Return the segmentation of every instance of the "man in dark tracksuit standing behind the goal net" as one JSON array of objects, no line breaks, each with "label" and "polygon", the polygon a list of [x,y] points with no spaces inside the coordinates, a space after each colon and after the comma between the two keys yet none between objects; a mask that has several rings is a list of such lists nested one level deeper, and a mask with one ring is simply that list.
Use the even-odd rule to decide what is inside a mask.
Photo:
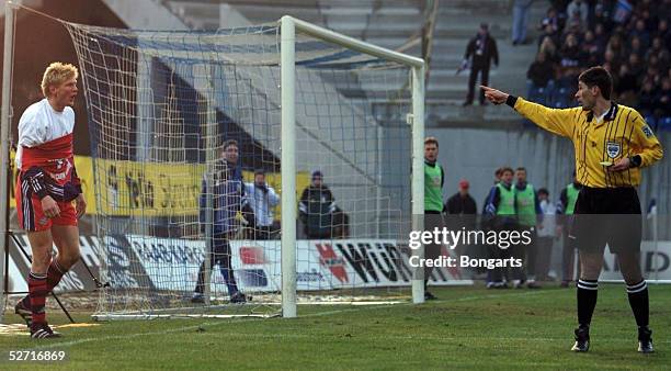
[{"label": "man in dark tracksuit standing behind the goal net", "polygon": [[[244,199],[244,186],[242,183],[242,170],[238,166],[238,142],[229,139],[224,144],[221,158],[215,166],[211,181],[213,192],[213,207],[208,210],[206,194],[207,182],[203,179],[203,191],[201,192],[201,223],[205,223],[205,213],[213,213],[212,217],[212,252],[209,254],[209,267],[219,265],[219,270],[228,288],[231,303],[246,303],[247,296],[238,290],[236,277],[234,276],[230,238],[237,233],[236,214],[242,211]],[[206,177],[208,175],[205,175]],[[253,223],[253,216],[247,218]],[[250,221],[251,220],[251,221]],[[205,296],[205,261],[198,269],[196,288],[191,297],[192,303],[204,303]]]}]

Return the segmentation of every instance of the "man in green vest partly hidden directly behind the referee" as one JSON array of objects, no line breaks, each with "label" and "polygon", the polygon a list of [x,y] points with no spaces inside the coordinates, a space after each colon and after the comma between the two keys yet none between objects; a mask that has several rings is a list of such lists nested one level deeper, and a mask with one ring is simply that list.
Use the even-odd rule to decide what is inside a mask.
[{"label": "man in green vest partly hidden directly behind the referee", "polygon": [[573,171],[573,181],[566,186],[559,196],[557,205],[558,228],[561,229],[564,248],[561,251],[561,288],[568,288],[571,281],[575,280],[573,266],[576,263],[576,245],[569,238],[569,226],[573,218],[576,210],[576,201],[582,186],[576,180],[576,171]]}]

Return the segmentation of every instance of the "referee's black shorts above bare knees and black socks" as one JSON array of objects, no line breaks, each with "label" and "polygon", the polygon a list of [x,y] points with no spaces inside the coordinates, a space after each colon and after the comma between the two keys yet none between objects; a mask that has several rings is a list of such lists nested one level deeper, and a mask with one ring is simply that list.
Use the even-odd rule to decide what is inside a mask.
[{"label": "referee's black shorts above bare knees and black socks", "polygon": [[640,201],[635,188],[583,187],[576,202],[570,235],[587,252],[639,252],[642,234]]}]

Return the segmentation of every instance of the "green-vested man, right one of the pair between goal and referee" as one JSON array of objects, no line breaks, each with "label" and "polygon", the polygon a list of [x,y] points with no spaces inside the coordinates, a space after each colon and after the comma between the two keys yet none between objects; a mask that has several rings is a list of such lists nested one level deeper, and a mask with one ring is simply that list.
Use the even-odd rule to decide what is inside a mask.
[{"label": "green-vested man, right one of the pair between goal and referee", "polygon": [[[515,289],[522,289],[524,281],[527,279],[530,289],[539,289],[536,283],[536,226],[541,224],[543,210],[534,186],[526,181],[526,169],[519,167],[515,170],[515,212],[518,215],[518,225],[520,231],[531,231],[532,243],[530,245],[518,244],[512,247],[512,255],[515,258],[526,260],[522,268],[516,269],[516,278],[513,281]],[[526,267],[526,271],[525,268]]]}]

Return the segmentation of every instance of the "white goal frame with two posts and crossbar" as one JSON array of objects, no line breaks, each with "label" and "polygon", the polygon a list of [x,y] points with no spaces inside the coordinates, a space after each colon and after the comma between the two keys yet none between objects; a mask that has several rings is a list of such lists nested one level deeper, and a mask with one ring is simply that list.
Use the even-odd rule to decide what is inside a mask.
[{"label": "white goal frame with two posts and crossbar", "polygon": [[[369,54],[372,56],[385,58],[411,68],[412,81],[412,113],[408,116],[409,124],[412,125],[412,214],[422,215],[424,213],[424,177],[423,177],[423,138],[424,138],[424,61],[421,58],[385,49],[373,44],[368,44],[345,35],[338,34],[330,30],[297,20],[285,15],[280,20],[282,35],[282,142],[292,144],[296,142],[295,132],[295,35],[296,32],[341,45],[353,50]],[[295,148],[283,146],[282,151],[282,175],[284,186],[295,189]],[[287,181],[289,183],[287,183]],[[293,221],[296,218],[295,207],[296,192],[283,192],[282,194],[282,218]],[[413,229],[419,231],[421,225],[417,225],[420,218],[413,217]],[[296,228],[295,225],[284,227],[282,231],[282,308],[284,317],[296,316]],[[423,257],[423,246],[416,251]],[[420,270],[413,271],[412,280],[412,301],[413,303],[424,302],[424,284],[418,274]],[[422,276],[423,277],[423,276]]]}]

